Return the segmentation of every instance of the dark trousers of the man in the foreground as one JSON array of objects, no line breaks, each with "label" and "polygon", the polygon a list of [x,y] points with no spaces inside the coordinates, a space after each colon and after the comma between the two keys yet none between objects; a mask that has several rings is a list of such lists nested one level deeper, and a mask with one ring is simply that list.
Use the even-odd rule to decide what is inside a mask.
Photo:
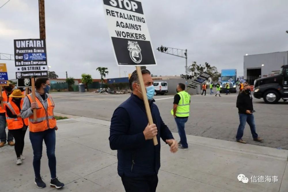
[{"label": "dark trousers of the man in the foreground", "polygon": [[158,185],[158,176],[121,177],[126,192],[155,192]]}]

